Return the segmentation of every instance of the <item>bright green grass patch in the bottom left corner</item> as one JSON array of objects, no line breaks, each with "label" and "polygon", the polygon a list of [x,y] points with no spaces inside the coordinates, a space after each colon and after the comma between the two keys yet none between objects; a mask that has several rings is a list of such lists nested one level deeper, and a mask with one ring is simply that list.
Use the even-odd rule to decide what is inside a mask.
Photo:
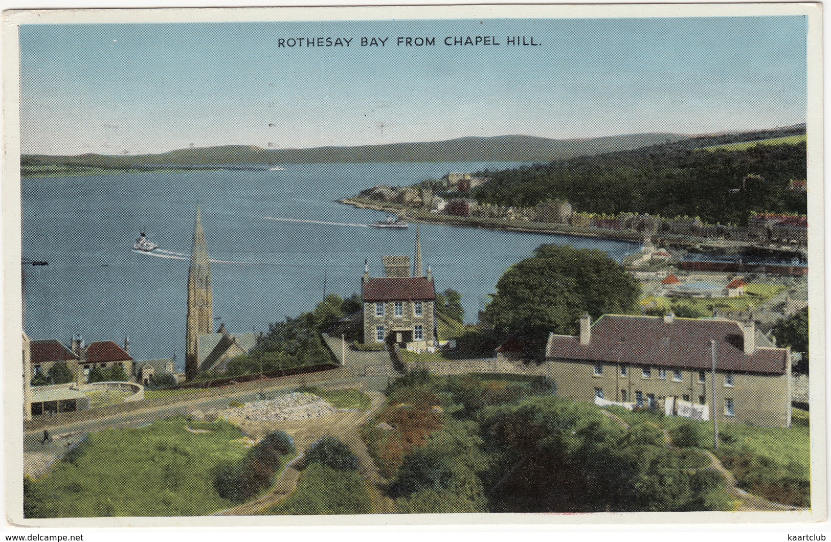
[{"label": "bright green grass patch in the bottom left corner", "polygon": [[32,482],[32,517],[207,515],[234,505],[214,490],[214,469],[248,448],[238,428],[184,417],[91,433]]}]

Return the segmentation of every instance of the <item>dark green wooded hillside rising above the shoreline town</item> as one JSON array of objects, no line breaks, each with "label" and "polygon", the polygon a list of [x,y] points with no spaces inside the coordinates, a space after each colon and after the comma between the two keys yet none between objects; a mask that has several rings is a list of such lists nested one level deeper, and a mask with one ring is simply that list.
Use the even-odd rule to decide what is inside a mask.
[{"label": "dark green wooded hillside rising above the shoreline town", "polygon": [[777,131],[701,136],[603,155],[555,160],[519,169],[481,171],[488,183],[472,191],[480,204],[529,207],[568,200],[590,213],[637,212],[699,216],[705,222],[744,225],[751,211],[805,214],[804,192],[791,180],[807,177],[806,143],[709,149],[742,140],[804,134],[804,126]]}]

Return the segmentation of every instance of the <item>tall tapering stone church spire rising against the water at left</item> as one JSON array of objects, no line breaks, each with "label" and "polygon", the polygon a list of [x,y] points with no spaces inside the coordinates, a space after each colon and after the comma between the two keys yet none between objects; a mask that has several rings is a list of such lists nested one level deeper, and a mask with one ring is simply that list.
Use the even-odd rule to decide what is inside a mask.
[{"label": "tall tapering stone church spire rising against the water at left", "polygon": [[199,336],[213,332],[214,292],[211,287],[210,260],[205,244],[199,207],[196,208],[194,247],[188,273],[188,328],[185,372],[188,379],[199,373]]}]

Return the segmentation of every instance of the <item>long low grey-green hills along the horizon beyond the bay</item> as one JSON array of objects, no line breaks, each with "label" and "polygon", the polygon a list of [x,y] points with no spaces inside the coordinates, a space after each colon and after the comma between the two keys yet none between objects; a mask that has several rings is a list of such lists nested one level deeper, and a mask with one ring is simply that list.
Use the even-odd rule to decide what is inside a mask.
[{"label": "long low grey-green hills along the horizon beyond the bay", "polygon": [[125,170],[165,165],[223,167],[334,162],[552,162],[668,143],[684,142],[687,148],[691,148],[804,133],[805,126],[799,125],[765,131],[723,132],[710,135],[656,132],[572,140],[553,140],[532,135],[497,135],[445,141],[354,147],[328,146],[312,149],[263,149],[251,145],[221,145],[170,150],[153,155],[22,155],[21,165],[24,170],[34,171],[44,166]]}]

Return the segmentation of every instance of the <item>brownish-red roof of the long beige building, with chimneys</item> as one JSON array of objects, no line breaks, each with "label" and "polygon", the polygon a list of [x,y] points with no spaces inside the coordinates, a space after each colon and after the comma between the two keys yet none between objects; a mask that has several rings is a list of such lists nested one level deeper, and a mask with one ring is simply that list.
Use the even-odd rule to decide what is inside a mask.
[{"label": "brownish-red roof of the long beige building, with chimneys", "polygon": [[591,328],[588,344],[578,337],[548,338],[546,357],[594,362],[707,369],[712,367],[711,339],[715,339],[721,371],[782,375],[789,362],[784,348],[756,347],[744,352],[744,331],[739,323],[722,319],[605,315]]}]

